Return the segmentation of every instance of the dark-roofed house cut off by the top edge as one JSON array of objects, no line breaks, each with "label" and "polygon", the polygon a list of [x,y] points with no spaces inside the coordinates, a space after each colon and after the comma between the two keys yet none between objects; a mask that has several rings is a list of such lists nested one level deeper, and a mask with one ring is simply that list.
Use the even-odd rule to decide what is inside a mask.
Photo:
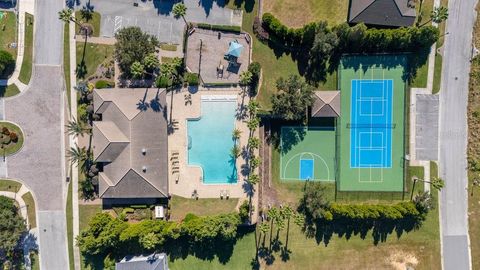
[{"label": "dark-roofed house cut off by the top edge", "polygon": [[416,13],[413,0],[350,0],[348,22],[374,26],[412,26]]}]

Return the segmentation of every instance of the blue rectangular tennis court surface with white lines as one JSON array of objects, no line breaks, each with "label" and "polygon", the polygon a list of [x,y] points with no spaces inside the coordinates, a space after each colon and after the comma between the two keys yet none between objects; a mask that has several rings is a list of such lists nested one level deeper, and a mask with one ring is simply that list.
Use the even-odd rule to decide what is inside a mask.
[{"label": "blue rectangular tennis court surface with white lines", "polygon": [[392,166],[392,80],[352,80],[350,167]]}]

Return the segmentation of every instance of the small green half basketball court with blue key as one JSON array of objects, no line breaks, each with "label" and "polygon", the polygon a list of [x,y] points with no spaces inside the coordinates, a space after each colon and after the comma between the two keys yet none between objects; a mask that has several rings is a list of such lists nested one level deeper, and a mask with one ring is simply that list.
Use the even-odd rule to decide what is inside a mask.
[{"label": "small green half basketball court with blue key", "polygon": [[335,181],[335,129],[282,127],[280,178]]}]

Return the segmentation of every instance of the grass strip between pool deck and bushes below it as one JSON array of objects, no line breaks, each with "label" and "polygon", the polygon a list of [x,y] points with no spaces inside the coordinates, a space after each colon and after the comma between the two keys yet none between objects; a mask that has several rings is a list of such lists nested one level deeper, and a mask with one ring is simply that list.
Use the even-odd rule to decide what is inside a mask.
[{"label": "grass strip between pool deck and bushes below it", "polygon": [[235,211],[238,199],[187,199],[179,196],[172,196],[170,200],[170,218],[172,220],[181,220],[186,214],[192,213],[198,216],[207,216],[222,213],[231,213]]}]

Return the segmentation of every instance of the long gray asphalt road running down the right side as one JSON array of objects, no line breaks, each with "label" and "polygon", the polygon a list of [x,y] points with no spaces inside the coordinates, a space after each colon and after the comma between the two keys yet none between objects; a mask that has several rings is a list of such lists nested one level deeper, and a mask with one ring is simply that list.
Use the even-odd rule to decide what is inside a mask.
[{"label": "long gray asphalt road running down the right side", "polygon": [[467,100],[477,0],[449,1],[440,94],[443,267],[470,269],[467,192]]}]

